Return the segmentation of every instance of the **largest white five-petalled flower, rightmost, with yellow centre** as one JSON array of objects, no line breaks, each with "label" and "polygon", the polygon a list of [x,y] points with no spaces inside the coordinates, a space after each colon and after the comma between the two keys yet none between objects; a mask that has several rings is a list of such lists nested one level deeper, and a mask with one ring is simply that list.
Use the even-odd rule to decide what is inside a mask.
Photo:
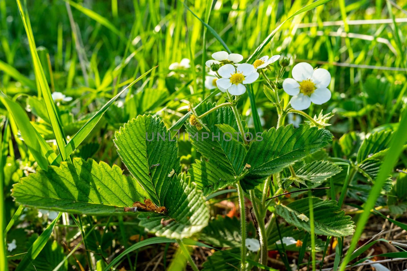
[{"label": "largest white five-petalled flower, rightmost, with yellow centre", "polygon": [[291,71],[293,78],[287,78],[282,82],[282,88],[291,96],[291,106],[296,110],[309,108],[311,102],[323,104],[331,98],[331,92],[327,88],[331,76],[326,69],[313,67],[306,62],[298,63]]}]

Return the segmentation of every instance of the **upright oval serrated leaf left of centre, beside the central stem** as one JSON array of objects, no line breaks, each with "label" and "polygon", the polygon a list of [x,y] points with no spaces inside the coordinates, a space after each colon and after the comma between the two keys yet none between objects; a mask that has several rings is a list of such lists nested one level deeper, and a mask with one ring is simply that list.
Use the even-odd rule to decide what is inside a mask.
[{"label": "upright oval serrated leaf left of centre, beside the central stem", "polygon": [[173,169],[175,174],[181,171],[177,141],[170,140],[164,123],[151,115],[139,115],[116,132],[114,143],[130,173],[151,200],[163,206],[171,179],[168,174]]}]

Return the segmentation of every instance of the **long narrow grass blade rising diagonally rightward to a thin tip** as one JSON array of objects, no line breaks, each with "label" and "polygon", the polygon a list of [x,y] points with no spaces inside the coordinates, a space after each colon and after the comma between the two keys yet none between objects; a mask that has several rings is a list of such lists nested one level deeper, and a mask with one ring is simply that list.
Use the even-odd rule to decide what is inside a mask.
[{"label": "long narrow grass blade rising diagonally rightward to a thin tip", "polygon": [[[142,78],[144,78],[147,74],[149,74],[149,72],[151,72],[156,67],[157,66],[149,69],[147,72],[142,74],[136,80],[131,82],[127,87],[125,87],[122,91],[120,91],[116,96],[114,96],[112,99],[110,99],[109,102],[107,102],[104,106],[102,106],[102,108],[99,109],[99,111],[96,112],[96,114],[93,115],[93,117],[91,117],[88,120],[88,122],[86,122],[86,124],[84,126],[82,126],[81,129],[79,129],[79,131],[74,135],[74,137],[72,137],[72,139],[69,141],[69,143],[66,144],[66,146],[65,146],[66,154],[70,155],[79,146],[79,144],[82,143],[82,141],[88,136],[88,134],[93,130],[93,128],[98,123],[98,121],[101,119],[101,117],[103,116],[103,113],[106,112],[106,110],[109,108],[109,106],[111,106],[114,103],[114,101],[116,101],[116,99],[120,95],[122,95],[122,93],[124,91],[126,91],[126,89],[129,89],[130,87],[132,87],[134,84],[136,84],[138,81],[140,81]],[[61,155],[58,154],[58,156],[52,162],[52,165],[59,165],[59,163],[61,163],[61,161],[62,161]]]}]

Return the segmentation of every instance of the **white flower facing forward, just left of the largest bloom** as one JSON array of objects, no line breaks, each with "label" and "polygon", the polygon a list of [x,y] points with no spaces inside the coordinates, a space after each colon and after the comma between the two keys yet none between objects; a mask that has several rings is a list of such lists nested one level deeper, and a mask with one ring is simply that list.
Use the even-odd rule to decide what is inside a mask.
[{"label": "white flower facing forward, just left of the largest bloom", "polygon": [[246,92],[245,84],[251,84],[258,78],[258,73],[252,64],[243,63],[235,68],[232,64],[226,64],[219,68],[218,74],[222,76],[216,80],[218,88],[232,95],[242,95]]}]

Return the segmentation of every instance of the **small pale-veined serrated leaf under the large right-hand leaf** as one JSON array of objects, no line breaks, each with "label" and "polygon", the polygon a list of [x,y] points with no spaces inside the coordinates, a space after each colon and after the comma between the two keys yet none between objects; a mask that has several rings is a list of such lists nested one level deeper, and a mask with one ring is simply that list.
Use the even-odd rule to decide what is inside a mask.
[{"label": "small pale-veined serrated leaf under the large right-hand leaf", "polygon": [[295,169],[295,177],[284,178],[282,180],[284,188],[292,182],[300,182],[307,187],[313,187],[322,181],[335,176],[342,171],[342,168],[328,161],[314,161],[306,163],[300,169]]}]

